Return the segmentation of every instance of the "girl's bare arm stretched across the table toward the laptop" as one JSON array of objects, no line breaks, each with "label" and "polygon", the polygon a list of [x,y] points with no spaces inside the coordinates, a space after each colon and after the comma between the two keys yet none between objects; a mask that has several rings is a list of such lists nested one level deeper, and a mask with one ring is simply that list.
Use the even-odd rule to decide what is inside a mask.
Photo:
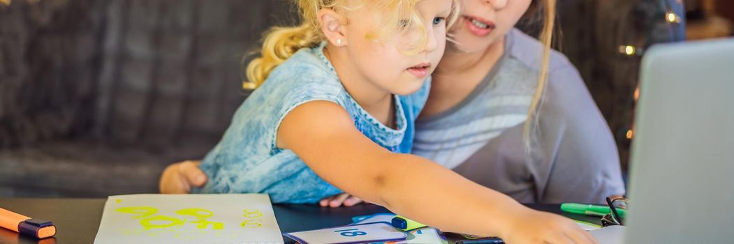
[{"label": "girl's bare arm stretched across the table toward the laptop", "polygon": [[291,149],[330,184],[446,232],[509,243],[594,242],[567,218],[530,210],[437,163],[379,147],[335,103],[294,108],[278,128],[277,146]]}]

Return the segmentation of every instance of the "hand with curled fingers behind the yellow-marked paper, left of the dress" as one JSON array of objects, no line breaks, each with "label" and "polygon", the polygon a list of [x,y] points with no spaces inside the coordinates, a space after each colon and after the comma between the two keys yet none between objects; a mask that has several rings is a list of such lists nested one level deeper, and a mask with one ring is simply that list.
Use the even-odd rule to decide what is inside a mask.
[{"label": "hand with curled fingers behind the yellow-marked paper, left of the dress", "polygon": [[206,174],[199,169],[200,164],[200,160],[186,160],[167,166],[159,182],[161,193],[190,193],[192,187],[202,187],[206,184]]}]

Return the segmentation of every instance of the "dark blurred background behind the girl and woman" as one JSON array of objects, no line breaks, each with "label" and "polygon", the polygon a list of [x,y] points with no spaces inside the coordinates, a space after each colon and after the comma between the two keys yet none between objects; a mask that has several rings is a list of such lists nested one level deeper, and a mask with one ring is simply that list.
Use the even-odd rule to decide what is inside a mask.
[{"label": "dark blurred background behind the girl and woman", "polygon": [[[216,143],[247,95],[242,57],[267,27],[294,21],[289,10],[283,0],[0,4],[0,196],[157,191],[164,166]],[[640,56],[619,45],[682,39],[669,11],[683,17],[675,0],[559,1],[556,46],[581,71],[623,165]]]}]

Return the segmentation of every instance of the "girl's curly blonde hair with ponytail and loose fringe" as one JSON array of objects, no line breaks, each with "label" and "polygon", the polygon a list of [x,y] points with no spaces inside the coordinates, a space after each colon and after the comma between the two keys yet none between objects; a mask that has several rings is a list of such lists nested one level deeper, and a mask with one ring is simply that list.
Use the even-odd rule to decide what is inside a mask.
[{"label": "girl's curly blonde hair with ponytail and loose fringe", "polygon": [[[260,57],[253,59],[247,64],[247,81],[243,83],[244,89],[255,89],[268,78],[270,72],[292,56],[300,48],[310,48],[325,40],[321,33],[319,23],[319,10],[324,8],[333,9],[337,12],[357,10],[364,4],[351,4],[355,0],[296,0],[302,23],[299,26],[273,27],[266,32]],[[393,34],[400,29],[418,28],[424,33],[425,26],[418,15],[415,5],[421,0],[373,0],[368,1],[374,10],[381,10],[382,23],[377,32],[370,32],[368,40],[379,41],[385,35]],[[450,17],[446,20],[450,26],[459,16],[458,4],[453,0]],[[349,2],[350,4],[348,4]],[[347,23],[349,20],[346,20]],[[426,44],[426,38],[422,38],[418,45],[412,45],[411,52],[421,50]]]}]

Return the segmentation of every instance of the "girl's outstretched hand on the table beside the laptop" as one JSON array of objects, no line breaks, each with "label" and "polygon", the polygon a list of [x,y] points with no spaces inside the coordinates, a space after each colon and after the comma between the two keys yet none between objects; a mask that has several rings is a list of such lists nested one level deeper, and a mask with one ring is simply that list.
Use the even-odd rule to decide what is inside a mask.
[{"label": "girl's outstretched hand on the table beside the laptop", "polygon": [[589,232],[561,215],[527,209],[516,216],[501,236],[506,243],[597,243]]}]

